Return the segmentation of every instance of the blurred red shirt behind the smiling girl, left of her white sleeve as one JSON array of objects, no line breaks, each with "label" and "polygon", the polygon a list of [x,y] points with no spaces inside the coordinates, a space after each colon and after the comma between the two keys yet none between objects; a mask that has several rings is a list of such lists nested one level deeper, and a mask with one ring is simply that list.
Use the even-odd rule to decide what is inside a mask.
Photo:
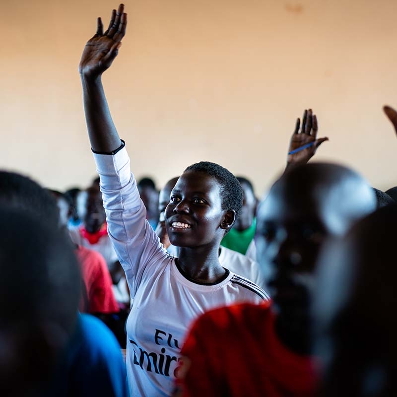
[{"label": "blurred red shirt behind the smiling girl, left of her white sleeve", "polygon": [[88,313],[110,314],[120,311],[112,290],[112,278],[102,255],[78,246],[75,250],[87,290]]}]

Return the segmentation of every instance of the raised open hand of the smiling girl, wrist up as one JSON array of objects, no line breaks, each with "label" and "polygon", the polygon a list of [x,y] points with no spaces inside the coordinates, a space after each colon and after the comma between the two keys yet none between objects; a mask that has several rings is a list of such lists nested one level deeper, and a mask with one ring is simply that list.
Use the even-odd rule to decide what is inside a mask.
[{"label": "raised open hand of the smiling girl, wrist up", "polygon": [[81,55],[78,66],[79,73],[85,78],[100,76],[118,54],[121,40],[126,34],[127,14],[124,12],[124,4],[119,9],[112,11],[108,30],[103,33],[101,18],[98,18],[96,34],[88,40]]}]

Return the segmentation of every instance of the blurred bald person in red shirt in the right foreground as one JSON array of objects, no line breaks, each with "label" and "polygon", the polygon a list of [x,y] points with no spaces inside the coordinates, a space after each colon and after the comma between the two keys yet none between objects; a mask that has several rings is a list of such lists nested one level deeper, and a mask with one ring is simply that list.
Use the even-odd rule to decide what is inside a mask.
[{"label": "blurred bald person in red shirt in the right foreground", "polygon": [[[305,116],[312,123],[311,111]],[[310,136],[307,121],[303,125],[301,133]],[[199,317],[182,348],[178,396],[315,396],[310,296],[317,256],[327,238],[375,210],[376,198],[345,167],[297,163],[258,210],[257,258],[270,268],[271,304],[223,307]]]}]

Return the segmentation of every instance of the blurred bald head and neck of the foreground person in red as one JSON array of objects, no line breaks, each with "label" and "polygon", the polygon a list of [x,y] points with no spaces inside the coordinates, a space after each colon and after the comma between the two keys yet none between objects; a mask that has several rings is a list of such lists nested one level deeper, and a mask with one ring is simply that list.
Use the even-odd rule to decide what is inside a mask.
[{"label": "blurred bald head and neck of the foreground person in red", "polygon": [[270,265],[276,332],[293,351],[311,350],[310,296],[320,248],[375,208],[375,194],[361,176],[325,163],[285,173],[260,204],[257,258]]}]

